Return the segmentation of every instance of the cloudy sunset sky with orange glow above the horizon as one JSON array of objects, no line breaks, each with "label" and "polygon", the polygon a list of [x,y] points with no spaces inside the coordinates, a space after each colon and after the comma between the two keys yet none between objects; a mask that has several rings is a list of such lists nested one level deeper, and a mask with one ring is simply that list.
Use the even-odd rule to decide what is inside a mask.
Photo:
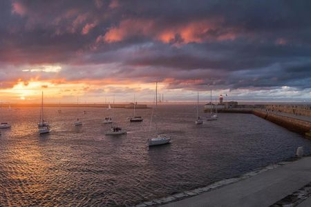
[{"label": "cloudy sunset sky with orange glow above the horizon", "polygon": [[311,101],[311,1],[2,0],[3,102]]}]

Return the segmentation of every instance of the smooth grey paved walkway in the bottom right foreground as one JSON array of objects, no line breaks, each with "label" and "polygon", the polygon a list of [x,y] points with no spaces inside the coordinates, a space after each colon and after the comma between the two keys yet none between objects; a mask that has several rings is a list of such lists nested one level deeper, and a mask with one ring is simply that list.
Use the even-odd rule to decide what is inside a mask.
[{"label": "smooth grey paved walkway in the bottom right foreground", "polygon": [[[303,157],[235,184],[163,206],[270,206],[310,181],[311,157]],[[300,205],[308,201],[310,204],[311,200],[307,199]]]}]

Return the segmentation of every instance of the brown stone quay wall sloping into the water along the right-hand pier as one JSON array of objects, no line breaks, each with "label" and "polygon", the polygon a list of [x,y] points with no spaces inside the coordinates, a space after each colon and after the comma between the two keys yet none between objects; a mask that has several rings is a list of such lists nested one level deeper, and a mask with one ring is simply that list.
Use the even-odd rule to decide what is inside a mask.
[{"label": "brown stone quay wall sloping into the water along the right-hand pier", "polygon": [[219,112],[253,114],[257,117],[261,117],[263,119],[266,119],[267,121],[271,121],[274,124],[278,124],[279,126],[283,126],[284,128],[287,128],[288,130],[297,132],[299,134],[309,136],[311,133],[311,122],[303,121],[301,119],[295,119],[293,117],[278,115],[274,112],[267,112],[265,110],[258,109],[223,109]]}]

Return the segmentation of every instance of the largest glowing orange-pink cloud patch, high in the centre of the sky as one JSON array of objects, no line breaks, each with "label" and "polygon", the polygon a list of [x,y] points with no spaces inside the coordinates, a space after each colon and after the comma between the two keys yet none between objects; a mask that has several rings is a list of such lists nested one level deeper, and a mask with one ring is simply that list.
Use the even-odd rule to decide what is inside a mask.
[{"label": "largest glowing orange-pink cloud patch, high in the centre of the sky", "polygon": [[205,19],[161,29],[159,23],[151,19],[126,19],[119,26],[110,28],[104,36],[97,37],[97,42],[112,43],[135,36],[151,37],[164,43],[202,43],[207,40],[235,39],[236,34],[228,28],[220,28],[221,23],[222,19]]}]

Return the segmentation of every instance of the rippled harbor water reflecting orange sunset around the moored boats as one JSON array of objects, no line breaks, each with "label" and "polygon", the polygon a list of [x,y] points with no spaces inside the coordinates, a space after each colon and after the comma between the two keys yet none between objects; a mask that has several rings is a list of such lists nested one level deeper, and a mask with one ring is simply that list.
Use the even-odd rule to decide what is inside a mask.
[{"label": "rippled harbor water reflecting orange sunset around the moored boats", "polygon": [[[0,206],[127,206],[241,175],[295,154],[311,141],[254,115],[219,114],[194,124],[194,106],[160,106],[156,120],[172,144],[147,147],[151,109],[45,108],[52,132],[38,135],[39,108],[0,110]],[[86,110],[86,115],[83,114]],[[82,127],[73,126],[79,118]],[[203,113],[202,113],[203,114]],[[111,115],[128,130],[105,136]],[[113,124],[116,126],[116,124]]]}]

